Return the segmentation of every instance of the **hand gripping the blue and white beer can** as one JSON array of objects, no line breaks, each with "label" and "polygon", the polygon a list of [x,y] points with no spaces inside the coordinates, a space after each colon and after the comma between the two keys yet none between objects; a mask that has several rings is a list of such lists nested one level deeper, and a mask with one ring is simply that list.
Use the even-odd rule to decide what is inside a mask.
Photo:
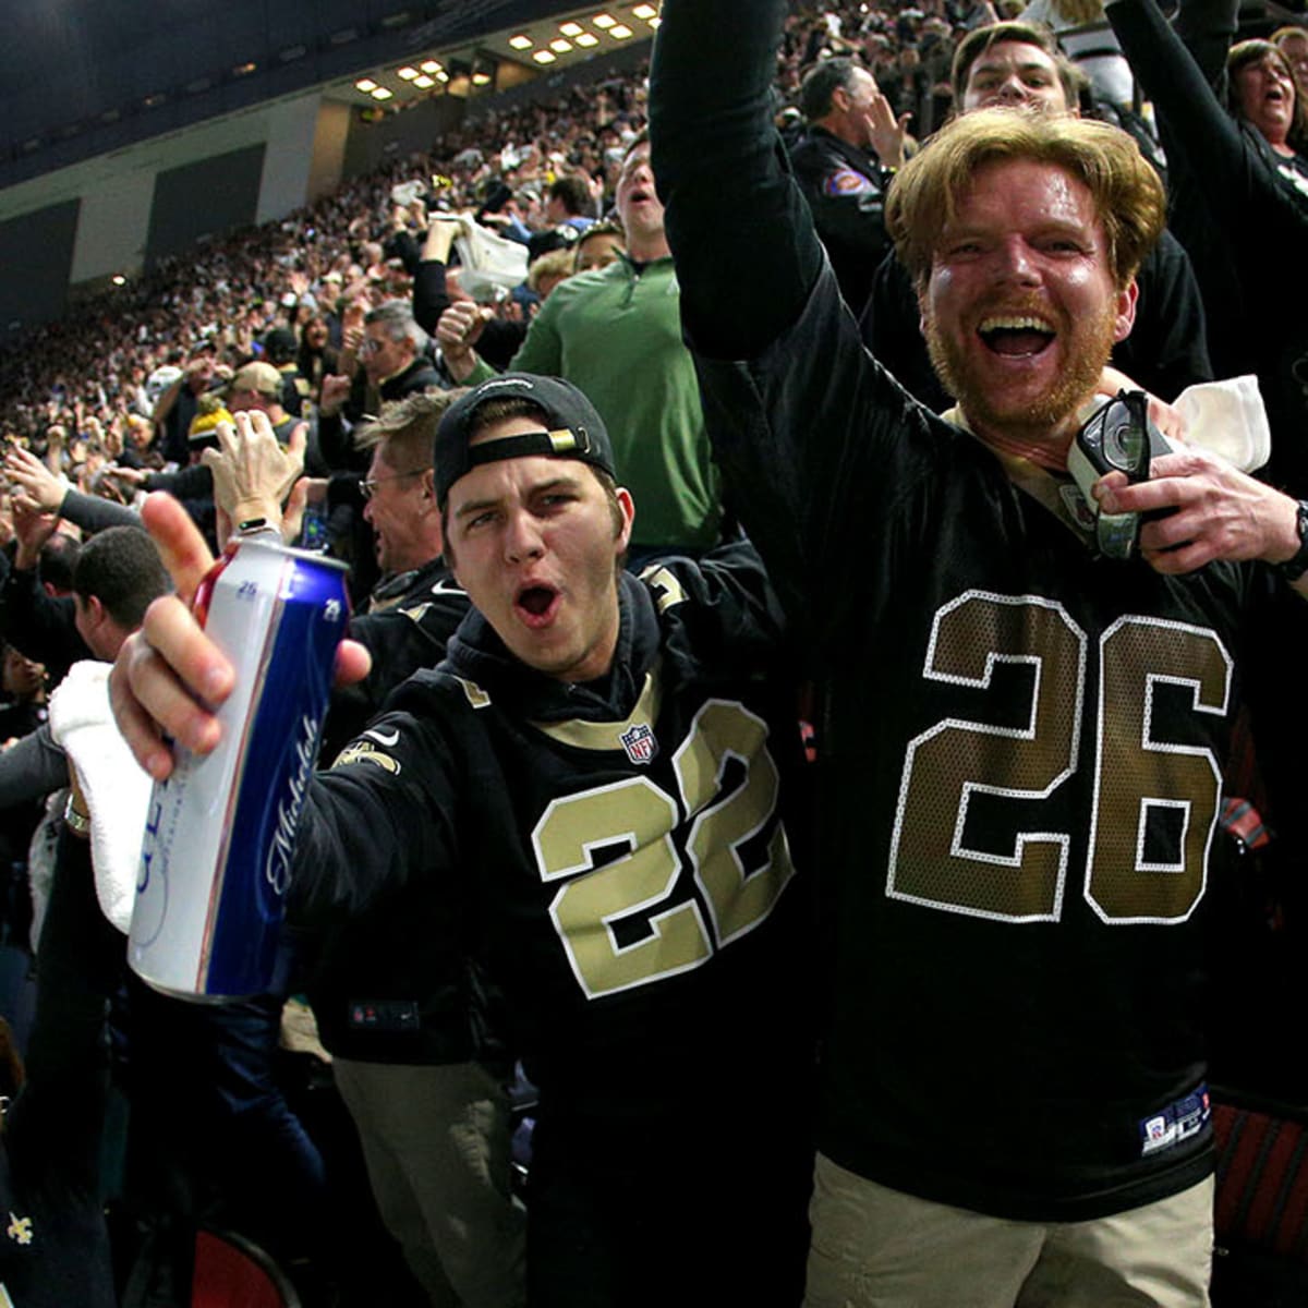
[{"label": "hand gripping the blue and white beer can", "polygon": [[[204,574],[213,566],[204,538],[171,496],[152,494],[141,521],[158,547],[177,594],[156,599],[141,629],[119,650],[109,679],[114,717],[136,756],[152,777],[173,770],[166,732],[196,753],[209,753],[222,731],[213,710],[232,693],[233,667],[204,634],[190,604]],[[336,681],[348,685],[368,675],[368,650],[341,641]]]}]

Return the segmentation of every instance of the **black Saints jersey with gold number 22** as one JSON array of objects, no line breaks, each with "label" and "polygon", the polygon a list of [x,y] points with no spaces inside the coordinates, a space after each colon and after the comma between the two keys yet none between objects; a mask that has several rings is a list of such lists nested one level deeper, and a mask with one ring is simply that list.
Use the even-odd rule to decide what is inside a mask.
[{"label": "black Saints jersey with gold number 22", "polygon": [[752,552],[620,595],[598,687],[525,668],[471,615],[319,778],[297,875],[336,904],[443,879],[555,1110],[647,1121],[742,1069],[803,1074],[799,734]]}]

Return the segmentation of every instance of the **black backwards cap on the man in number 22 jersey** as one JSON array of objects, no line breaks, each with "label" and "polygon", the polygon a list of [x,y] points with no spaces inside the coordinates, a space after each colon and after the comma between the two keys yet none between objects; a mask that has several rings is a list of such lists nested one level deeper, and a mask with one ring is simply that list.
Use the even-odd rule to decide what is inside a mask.
[{"label": "black backwards cap on the man in number 22 jersey", "polygon": [[[528,400],[544,413],[545,425],[538,432],[505,436],[471,445],[477,430],[477,411],[492,400]],[[492,377],[456,399],[436,429],[436,502],[443,509],[454,485],[464,472],[483,463],[521,459],[544,454],[553,459],[579,459],[600,472],[613,473],[613,447],[595,405],[572,382],[532,373],[504,373]]]}]

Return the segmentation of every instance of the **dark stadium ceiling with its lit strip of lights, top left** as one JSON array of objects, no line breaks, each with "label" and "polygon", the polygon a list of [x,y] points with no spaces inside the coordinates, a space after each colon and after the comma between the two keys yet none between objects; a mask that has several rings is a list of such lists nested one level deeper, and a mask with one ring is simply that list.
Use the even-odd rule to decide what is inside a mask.
[{"label": "dark stadium ceiling with its lit strip of lights, top left", "polygon": [[[10,5],[0,42],[0,190],[309,92],[374,115],[422,95],[506,90],[647,42],[657,24],[654,0],[568,5],[167,0],[166,13],[144,0]],[[562,24],[579,29],[576,39]],[[422,64],[438,65],[449,80]],[[415,76],[399,78],[400,68]],[[381,94],[358,92],[360,80],[371,80]]]}]

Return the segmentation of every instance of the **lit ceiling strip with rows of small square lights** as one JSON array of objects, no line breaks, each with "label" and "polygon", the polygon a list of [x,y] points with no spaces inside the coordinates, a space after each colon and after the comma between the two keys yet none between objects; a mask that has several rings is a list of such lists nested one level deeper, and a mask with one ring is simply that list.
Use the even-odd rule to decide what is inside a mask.
[{"label": "lit ceiling strip with rows of small square lights", "polygon": [[607,55],[653,37],[658,5],[594,5],[518,24],[455,46],[433,46],[324,89],[360,109],[407,109],[432,95],[476,95]]}]

